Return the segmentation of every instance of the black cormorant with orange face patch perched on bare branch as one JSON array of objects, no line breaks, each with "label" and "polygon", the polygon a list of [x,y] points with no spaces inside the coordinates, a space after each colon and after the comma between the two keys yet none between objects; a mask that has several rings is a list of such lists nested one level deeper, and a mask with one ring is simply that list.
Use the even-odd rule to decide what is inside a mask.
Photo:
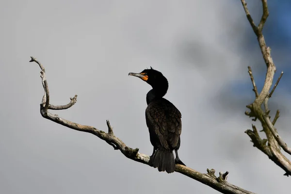
[{"label": "black cormorant with orange face patch perched on bare branch", "polygon": [[[129,73],[152,86],[146,95],[146,126],[154,150],[149,164],[158,170],[172,173],[175,163],[185,165],[178,157],[180,134],[182,129],[181,113],[163,96],[167,93],[169,84],[160,71],[145,69],[141,73]],[[173,150],[176,153],[174,160]]]}]

